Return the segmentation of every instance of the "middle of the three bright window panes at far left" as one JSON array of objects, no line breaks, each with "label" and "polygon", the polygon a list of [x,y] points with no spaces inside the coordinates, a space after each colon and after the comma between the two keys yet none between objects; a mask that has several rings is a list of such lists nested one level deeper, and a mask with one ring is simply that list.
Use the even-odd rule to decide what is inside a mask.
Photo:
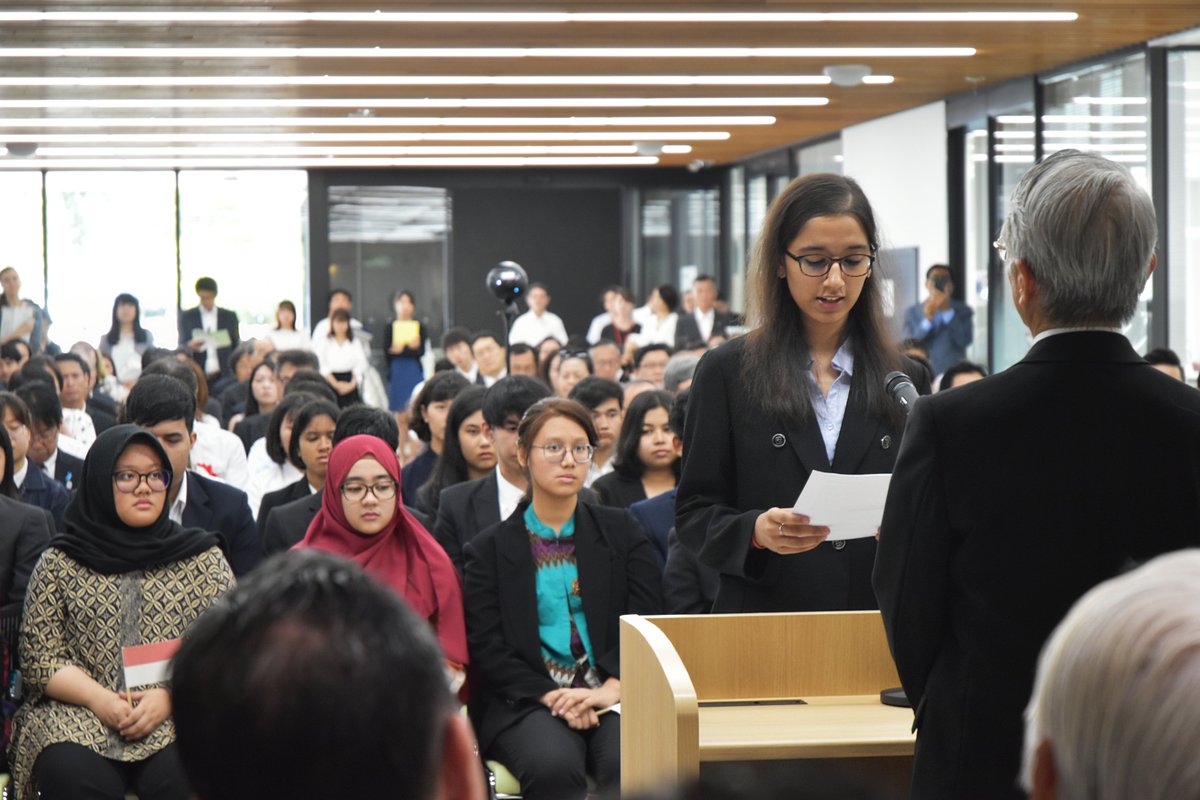
[{"label": "middle of the three bright window panes at far left", "polygon": [[96,344],[113,299],[138,297],[155,343],[175,347],[175,174],[46,174],[52,338]]}]

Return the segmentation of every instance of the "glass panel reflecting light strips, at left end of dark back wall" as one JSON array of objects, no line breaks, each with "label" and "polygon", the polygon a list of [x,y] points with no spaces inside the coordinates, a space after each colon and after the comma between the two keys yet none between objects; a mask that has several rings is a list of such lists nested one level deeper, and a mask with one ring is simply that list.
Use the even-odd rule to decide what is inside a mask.
[{"label": "glass panel reflecting light strips, at left end of dark back wall", "polygon": [[[330,186],[329,287],[352,293],[354,315],[376,336],[391,320],[392,295],[408,289],[416,297],[416,318],[439,342],[446,326],[449,233],[444,188]],[[320,319],[325,312],[314,308],[312,315]]]}]

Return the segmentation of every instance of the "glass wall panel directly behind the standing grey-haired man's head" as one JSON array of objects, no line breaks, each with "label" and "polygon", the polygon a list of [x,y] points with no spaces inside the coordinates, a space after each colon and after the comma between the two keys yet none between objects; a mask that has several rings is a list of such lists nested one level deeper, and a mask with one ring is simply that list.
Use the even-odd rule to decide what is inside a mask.
[{"label": "glass wall panel directly behind the standing grey-haired man's head", "polygon": [[[1150,191],[1150,114],[1146,58],[1056,76],[1044,84],[1045,152],[1074,149],[1118,161]],[[1152,284],[1146,282],[1126,333],[1139,353],[1150,349]]]}]

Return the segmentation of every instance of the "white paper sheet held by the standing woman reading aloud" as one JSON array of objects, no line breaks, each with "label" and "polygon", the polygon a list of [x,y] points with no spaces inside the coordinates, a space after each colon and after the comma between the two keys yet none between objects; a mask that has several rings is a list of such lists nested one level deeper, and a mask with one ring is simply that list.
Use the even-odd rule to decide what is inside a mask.
[{"label": "white paper sheet held by the standing woman reading aloud", "polygon": [[887,500],[890,482],[890,475],[841,475],[814,470],[792,510],[808,516],[814,525],[828,527],[828,542],[865,539],[875,535],[883,519],[883,501]]}]

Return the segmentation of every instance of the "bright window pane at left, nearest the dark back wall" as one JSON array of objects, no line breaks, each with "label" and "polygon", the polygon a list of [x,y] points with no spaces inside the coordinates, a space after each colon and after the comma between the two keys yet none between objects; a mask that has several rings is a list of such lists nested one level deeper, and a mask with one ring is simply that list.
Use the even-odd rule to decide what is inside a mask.
[{"label": "bright window pane at left, nearest the dark back wall", "polygon": [[304,172],[181,172],[182,307],[196,305],[196,281],[209,276],[220,289],[217,305],[238,313],[242,338],[272,329],[284,299],[296,306],[296,327],[311,323],[304,308],[307,200]]}]

